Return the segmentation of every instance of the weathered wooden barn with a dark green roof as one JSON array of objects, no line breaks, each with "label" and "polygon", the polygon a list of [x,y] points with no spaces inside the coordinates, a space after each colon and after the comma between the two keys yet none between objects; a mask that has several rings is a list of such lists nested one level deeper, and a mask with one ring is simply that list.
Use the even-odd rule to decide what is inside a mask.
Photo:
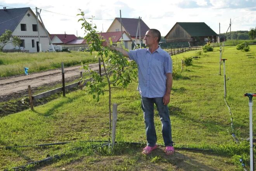
[{"label": "weathered wooden barn with a dark green roof", "polygon": [[218,34],[204,22],[176,22],[164,38],[167,43],[189,42],[195,45],[216,42]]}]

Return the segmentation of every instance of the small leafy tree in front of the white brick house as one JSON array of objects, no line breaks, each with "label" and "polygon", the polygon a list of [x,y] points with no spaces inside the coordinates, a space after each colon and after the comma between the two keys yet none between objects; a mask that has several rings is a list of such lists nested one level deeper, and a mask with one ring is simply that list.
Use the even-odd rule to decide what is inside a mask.
[{"label": "small leafy tree in front of the white brick house", "polygon": [[19,46],[21,44],[21,39],[17,36],[12,36],[12,31],[5,30],[5,32],[0,36],[0,51],[8,43],[12,43],[14,46]]}]

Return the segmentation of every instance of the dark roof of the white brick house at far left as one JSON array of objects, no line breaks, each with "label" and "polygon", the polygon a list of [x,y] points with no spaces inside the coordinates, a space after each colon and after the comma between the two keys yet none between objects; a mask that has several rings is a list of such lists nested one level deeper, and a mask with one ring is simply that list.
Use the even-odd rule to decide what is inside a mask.
[{"label": "dark roof of the white brick house at far left", "polygon": [[6,10],[0,9],[0,35],[7,29],[13,32],[29,9],[29,7]]}]

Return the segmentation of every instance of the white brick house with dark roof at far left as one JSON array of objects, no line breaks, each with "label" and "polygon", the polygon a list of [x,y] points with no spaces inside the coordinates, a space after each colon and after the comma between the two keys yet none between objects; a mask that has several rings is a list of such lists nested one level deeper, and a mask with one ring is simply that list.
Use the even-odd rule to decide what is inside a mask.
[{"label": "white brick house with dark roof at far left", "polygon": [[[0,35],[5,30],[12,31],[12,36],[21,39],[21,49],[28,50],[29,53],[39,51],[38,30],[36,24],[36,15],[29,8],[14,8],[0,10]],[[47,32],[43,29],[42,23],[39,21],[40,44],[42,51],[49,49],[49,40]],[[3,50],[15,49],[12,43],[7,44]]]}]

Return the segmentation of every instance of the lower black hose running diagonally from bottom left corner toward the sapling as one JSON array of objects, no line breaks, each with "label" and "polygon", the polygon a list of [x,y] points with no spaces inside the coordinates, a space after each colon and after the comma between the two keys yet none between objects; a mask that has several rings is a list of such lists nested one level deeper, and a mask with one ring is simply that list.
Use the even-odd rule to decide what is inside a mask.
[{"label": "lower black hose running diagonally from bottom left corner toward the sapling", "polygon": [[[93,145],[93,149],[95,149],[95,147],[99,147],[99,146],[104,147],[106,145],[108,145],[108,143],[105,143],[103,145],[102,144],[101,145]],[[81,150],[81,149],[83,149],[83,148],[82,147],[76,147],[74,149],[71,149],[71,151]],[[65,155],[66,155],[65,153],[55,154],[54,156],[47,157],[47,158],[45,158],[43,160],[35,161],[35,162],[30,162],[30,163],[24,164],[22,166],[17,166],[17,167],[11,168],[10,170],[15,170],[15,171],[17,170],[18,171],[18,170],[21,170],[21,169],[25,169],[29,165],[34,165],[35,166],[35,165],[38,165],[40,163],[45,163],[45,162],[48,162],[48,161],[52,161],[54,159],[60,159],[61,157],[65,156]],[[4,171],[9,171],[9,169],[5,169]]]}]

